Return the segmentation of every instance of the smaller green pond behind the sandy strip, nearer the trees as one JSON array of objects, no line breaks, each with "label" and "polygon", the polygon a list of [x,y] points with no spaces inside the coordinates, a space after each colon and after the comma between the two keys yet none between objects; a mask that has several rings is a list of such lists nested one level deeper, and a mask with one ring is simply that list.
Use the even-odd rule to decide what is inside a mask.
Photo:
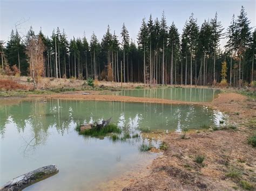
[{"label": "smaller green pond behind the sandy strip, nearer the trees", "polygon": [[[112,95],[161,98],[167,100],[187,102],[209,102],[220,93],[217,89],[207,88],[151,88],[151,89],[124,89],[111,93]],[[109,93],[108,93],[109,94]]]}]

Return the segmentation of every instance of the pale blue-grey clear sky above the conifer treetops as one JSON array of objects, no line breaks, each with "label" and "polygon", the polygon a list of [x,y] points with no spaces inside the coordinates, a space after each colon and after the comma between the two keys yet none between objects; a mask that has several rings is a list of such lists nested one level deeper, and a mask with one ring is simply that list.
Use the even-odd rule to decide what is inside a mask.
[{"label": "pale blue-grey clear sky above the conifer treetops", "polygon": [[[245,7],[251,26],[256,26],[255,0],[0,0],[0,40],[7,41],[11,30],[17,26],[18,32],[24,36],[33,27],[36,33],[42,28],[46,36],[51,36],[53,29],[65,30],[69,39],[83,37],[88,40],[94,31],[99,40],[110,25],[111,32],[116,31],[120,38],[123,23],[129,31],[130,38],[137,41],[142,19],[161,18],[163,11],[170,26],[177,25],[179,32],[194,13],[199,26],[206,19],[213,18],[218,12],[218,19],[225,30],[230,25],[233,14],[238,16],[241,5]],[[221,46],[225,39],[221,40]]]}]

